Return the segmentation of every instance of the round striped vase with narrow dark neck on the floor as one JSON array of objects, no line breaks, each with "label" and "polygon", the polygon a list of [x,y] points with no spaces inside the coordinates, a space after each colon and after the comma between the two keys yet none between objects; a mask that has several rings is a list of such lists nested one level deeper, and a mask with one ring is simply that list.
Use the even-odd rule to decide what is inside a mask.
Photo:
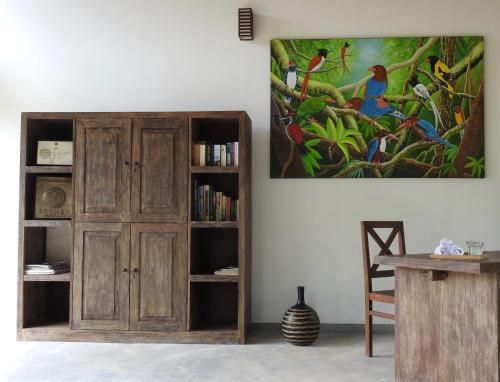
[{"label": "round striped vase with narrow dark neck on the floor", "polygon": [[288,309],[281,321],[281,330],[292,345],[311,345],[319,334],[319,317],[304,301],[304,287],[297,287],[297,304]]}]

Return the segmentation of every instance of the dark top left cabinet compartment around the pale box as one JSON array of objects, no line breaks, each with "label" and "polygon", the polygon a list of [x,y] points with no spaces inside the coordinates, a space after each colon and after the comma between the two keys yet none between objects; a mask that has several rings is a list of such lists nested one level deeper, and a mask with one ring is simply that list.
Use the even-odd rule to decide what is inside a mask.
[{"label": "dark top left cabinet compartment around the pale box", "polygon": [[38,141],[73,141],[72,119],[28,119],[26,121],[26,165],[36,166]]}]

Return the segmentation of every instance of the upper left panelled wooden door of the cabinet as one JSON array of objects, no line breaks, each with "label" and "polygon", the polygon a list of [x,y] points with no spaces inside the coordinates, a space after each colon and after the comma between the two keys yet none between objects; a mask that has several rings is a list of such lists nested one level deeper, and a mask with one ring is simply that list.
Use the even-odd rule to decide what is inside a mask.
[{"label": "upper left panelled wooden door of the cabinet", "polygon": [[129,119],[77,121],[77,221],[130,221],[130,131]]}]

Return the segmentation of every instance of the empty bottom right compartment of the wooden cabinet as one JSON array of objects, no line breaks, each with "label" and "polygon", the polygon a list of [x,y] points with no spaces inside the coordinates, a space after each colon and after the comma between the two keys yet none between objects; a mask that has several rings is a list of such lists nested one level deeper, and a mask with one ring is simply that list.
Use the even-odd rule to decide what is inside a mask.
[{"label": "empty bottom right compartment of the wooden cabinet", "polygon": [[238,284],[199,282],[190,285],[190,330],[236,330]]}]

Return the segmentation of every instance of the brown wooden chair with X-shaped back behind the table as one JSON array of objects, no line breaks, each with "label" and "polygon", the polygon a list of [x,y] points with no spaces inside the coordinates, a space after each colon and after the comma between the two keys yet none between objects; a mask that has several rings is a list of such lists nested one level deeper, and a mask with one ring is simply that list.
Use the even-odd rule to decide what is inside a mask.
[{"label": "brown wooden chair with X-shaped back behind the table", "polygon": [[[384,241],[377,233],[377,229],[392,228],[391,233]],[[395,256],[390,247],[394,239],[398,236],[399,253],[402,256],[406,253],[405,234],[402,221],[362,221],[361,240],[363,244],[363,269],[365,275],[365,355],[373,356],[373,316],[394,320],[394,314],[373,310],[373,301],[394,304],[394,289],[373,291],[372,279],[381,277],[393,277],[394,270],[378,270],[378,264],[371,264],[370,261],[370,237],[378,245],[379,256]]]}]

